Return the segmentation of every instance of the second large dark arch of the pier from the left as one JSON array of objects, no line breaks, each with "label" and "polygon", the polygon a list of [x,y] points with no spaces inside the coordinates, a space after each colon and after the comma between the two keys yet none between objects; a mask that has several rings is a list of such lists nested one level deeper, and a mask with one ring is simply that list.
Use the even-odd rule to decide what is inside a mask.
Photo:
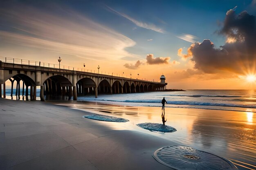
[{"label": "second large dark arch of the pier from the left", "polygon": [[43,95],[49,99],[71,99],[72,83],[62,75],[53,75],[43,82]]}]

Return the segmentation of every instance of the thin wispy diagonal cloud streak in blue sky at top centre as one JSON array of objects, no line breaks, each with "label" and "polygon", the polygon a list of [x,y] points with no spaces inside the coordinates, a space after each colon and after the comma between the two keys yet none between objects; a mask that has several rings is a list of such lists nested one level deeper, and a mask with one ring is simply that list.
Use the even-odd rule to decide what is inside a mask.
[{"label": "thin wispy diagonal cloud streak in blue sky at top centre", "polygon": [[107,7],[108,9],[110,9],[111,11],[113,11],[113,12],[115,12],[115,13],[121,15],[122,17],[124,17],[124,18],[130,20],[130,21],[133,22],[135,25],[137,25],[137,26],[139,26],[139,27],[141,27],[141,28],[150,29],[150,30],[156,31],[156,32],[158,32],[158,33],[166,33],[166,31],[164,31],[163,29],[161,29],[161,28],[155,26],[155,24],[149,24],[149,23],[137,21],[137,20],[131,18],[130,16],[128,16],[128,15],[126,15],[126,14],[124,14],[124,13],[117,12],[117,11],[115,11],[114,9],[112,9],[112,8],[110,8],[110,7],[108,7],[108,6],[106,6],[106,7]]}]

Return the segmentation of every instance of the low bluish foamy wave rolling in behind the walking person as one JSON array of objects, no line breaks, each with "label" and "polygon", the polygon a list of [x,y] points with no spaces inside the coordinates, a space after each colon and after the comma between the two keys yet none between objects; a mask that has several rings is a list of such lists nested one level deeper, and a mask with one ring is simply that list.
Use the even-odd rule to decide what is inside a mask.
[{"label": "low bluish foamy wave rolling in behind the walking person", "polygon": [[[161,103],[161,102],[159,102],[159,100],[109,100],[109,99],[94,99],[94,101],[125,102],[125,103],[155,103],[155,104],[160,104]],[[223,107],[256,108],[256,105],[209,103],[209,102],[190,102],[190,101],[168,101],[168,104],[172,104],[172,105],[190,105],[190,106],[223,106]]]}]

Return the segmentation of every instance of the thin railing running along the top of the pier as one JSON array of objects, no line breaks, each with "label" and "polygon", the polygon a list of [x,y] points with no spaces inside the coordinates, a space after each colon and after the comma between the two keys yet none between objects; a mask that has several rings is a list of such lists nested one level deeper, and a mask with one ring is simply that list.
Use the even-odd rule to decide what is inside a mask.
[{"label": "thin railing running along the top of the pier", "polygon": [[[38,61],[33,61],[33,60],[23,60],[23,59],[17,59],[17,58],[10,58],[10,57],[1,57],[0,56],[0,61],[5,62],[5,63],[11,63],[11,64],[21,64],[21,65],[27,65],[27,66],[41,66],[41,67],[47,67],[47,68],[60,68],[64,70],[71,70],[71,71],[82,71],[82,72],[88,72],[88,73],[98,73],[95,70],[92,69],[85,69],[85,68],[78,68],[78,67],[72,67],[72,66],[66,66],[63,64],[52,64],[52,63],[46,63],[46,62],[38,62]],[[118,73],[107,73],[104,71],[100,71],[99,74],[101,75],[112,75],[115,77],[124,77],[124,78],[130,78],[129,75],[124,75],[124,74],[118,74]],[[133,78],[134,79],[134,78]],[[137,78],[139,79],[139,78]],[[147,81],[146,79],[141,79],[144,81]],[[149,82],[156,82],[156,81],[149,81]]]}]

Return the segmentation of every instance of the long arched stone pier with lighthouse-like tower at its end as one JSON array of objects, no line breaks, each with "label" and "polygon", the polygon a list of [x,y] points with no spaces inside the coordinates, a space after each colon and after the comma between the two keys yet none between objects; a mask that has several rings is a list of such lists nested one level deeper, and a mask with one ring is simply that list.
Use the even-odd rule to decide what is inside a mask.
[{"label": "long arched stone pier with lighthouse-like tower at its end", "polygon": [[[119,93],[144,93],[164,91],[167,83],[165,77],[161,82],[151,82],[123,75],[106,75],[89,72],[87,69],[49,64],[31,60],[0,57],[0,97],[6,97],[6,81],[11,82],[11,98],[13,84],[16,82],[16,97],[22,100],[35,100],[36,88],[40,86],[40,100],[72,99],[77,96]],[[20,95],[20,84],[22,94]],[[3,88],[3,94],[2,94]]]}]

